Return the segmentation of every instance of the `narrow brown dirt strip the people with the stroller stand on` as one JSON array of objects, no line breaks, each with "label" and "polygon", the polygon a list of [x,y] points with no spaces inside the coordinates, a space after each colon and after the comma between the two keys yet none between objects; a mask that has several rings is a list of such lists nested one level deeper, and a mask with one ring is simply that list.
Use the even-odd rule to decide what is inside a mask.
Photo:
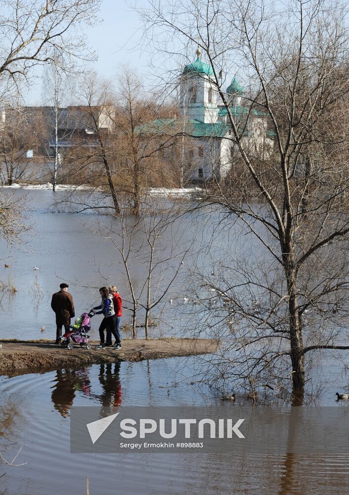
[{"label": "narrow brown dirt strip the people with the stroller stand on", "polygon": [[39,373],[58,368],[86,366],[95,363],[140,361],[162,357],[188,356],[214,352],[217,342],[208,339],[153,339],[123,340],[122,349],[106,347],[96,349],[98,342],[91,341],[90,350],[63,349],[50,341],[1,340],[0,375]]}]

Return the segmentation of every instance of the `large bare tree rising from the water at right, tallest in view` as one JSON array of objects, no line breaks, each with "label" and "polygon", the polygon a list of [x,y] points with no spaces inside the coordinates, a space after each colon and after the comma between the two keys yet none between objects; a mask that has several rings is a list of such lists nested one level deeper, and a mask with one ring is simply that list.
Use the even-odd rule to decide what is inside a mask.
[{"label": "large bare tree rising from the water at right, tallest in view", "polygon": [[[226,111],[233,163],[206,199],[246,242],[240,253],[227,244],[199,289],[215,291],[211,318],[227,347],[217,376],[243,378],[253,396],[286,381],[300,403],[305,357],[349,349],[345,13],[313,0],[288,1],[281,13],[245,0],[149,1],[141,11],[156,49],[174,35],[183,53],[199,44]],[[248,118],[264,114],[259,125],[239,124],[222,70],[239,71],[239,105]]]}]

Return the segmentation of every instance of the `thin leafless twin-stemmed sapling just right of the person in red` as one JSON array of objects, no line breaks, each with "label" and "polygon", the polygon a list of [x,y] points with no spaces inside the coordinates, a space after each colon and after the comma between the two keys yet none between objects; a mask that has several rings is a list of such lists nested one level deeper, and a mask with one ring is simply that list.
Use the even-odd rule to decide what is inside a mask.
[{"label": "thin leafless twin-stemmed sapling just right of the person in red", "polygon": [[145,338],[149,339],[151,312],[167,302],[190,250],[191,241],[185,241],[178,221],[181,212],[180,205],[166,198],[143,196],[137,216],[122,207],[118,218],[98,221],[96,232],[115,249],[116,257],[121,258],[116,278],[126,280],[131,297],[129,301],[124,297],[124,301],[131,302],[128,309],[133,339],[137,326],[144,327]]}]

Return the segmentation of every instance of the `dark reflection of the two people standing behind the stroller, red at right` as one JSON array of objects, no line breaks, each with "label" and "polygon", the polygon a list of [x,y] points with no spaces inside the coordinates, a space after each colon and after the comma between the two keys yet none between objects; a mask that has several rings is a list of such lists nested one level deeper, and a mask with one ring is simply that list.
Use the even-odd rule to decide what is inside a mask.
[{"label": "dark reflection of the two people standing behind the stroller, red at right", "polygon": [[99,383],[103,388],[100,402],[103,407],[118,407],[121,405],[120,363],[101,364]]}]

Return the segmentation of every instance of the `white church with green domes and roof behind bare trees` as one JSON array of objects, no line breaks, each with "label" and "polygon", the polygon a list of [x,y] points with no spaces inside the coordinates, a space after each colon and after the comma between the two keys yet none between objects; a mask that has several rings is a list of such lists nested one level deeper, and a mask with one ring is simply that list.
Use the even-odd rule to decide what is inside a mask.
[{"label": "white church with green domes and roof behind bare trees", "polygon": [[[152,129],[154,134],[184,133],[193,143],[185,150],[187,178],[201,181],[215,177],[219,180],[229,172],[237,147],[227,109],[218,101],[213,69],[202,61],[200,49],[196,55],[196,60],[187,64],[179,76],[180,117],[158,119],[141,127],[146,128],[146,132]],[[273,138],[267,130],[267,115],[243,105],[244,89],[236,77],[226,88],[226,98],[238,129],[241,129],[242,144],[256,154],[269,154]]]}]

